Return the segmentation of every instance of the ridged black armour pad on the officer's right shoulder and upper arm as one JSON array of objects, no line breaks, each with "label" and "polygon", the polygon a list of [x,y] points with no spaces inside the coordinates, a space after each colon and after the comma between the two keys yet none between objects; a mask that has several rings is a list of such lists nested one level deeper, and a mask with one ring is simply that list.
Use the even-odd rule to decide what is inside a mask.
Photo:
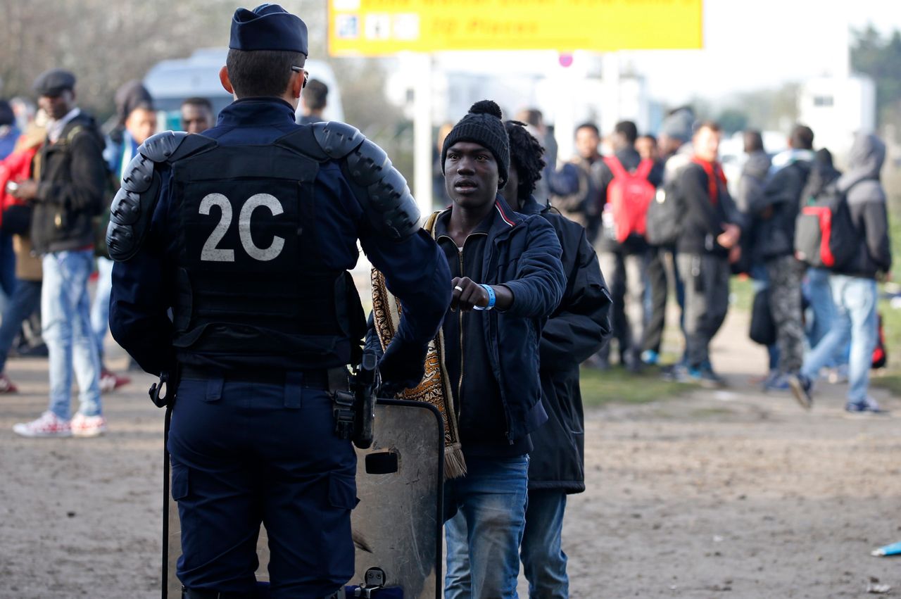
[{"label": "ridged black armour pad on the officer's right shoulder and upper arm", "polygon": [[385,150],[347,123],[314,123],[314,139],[341,164],[363,213],[380,234],[404,241],[419,230],[419,208]]}]

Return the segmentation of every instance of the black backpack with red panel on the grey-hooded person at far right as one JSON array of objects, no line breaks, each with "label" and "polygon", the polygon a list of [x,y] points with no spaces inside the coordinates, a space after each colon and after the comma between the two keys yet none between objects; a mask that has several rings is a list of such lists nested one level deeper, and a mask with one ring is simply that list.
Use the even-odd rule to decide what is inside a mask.
[{"label": "black backpack with red panel on the grey-hooded person at far right", "polygon": [[795,257],[815,268],[842,270],[860,250],[860,234],[851,221],[847,191],[836,182],[802,197],[795,227]]}]

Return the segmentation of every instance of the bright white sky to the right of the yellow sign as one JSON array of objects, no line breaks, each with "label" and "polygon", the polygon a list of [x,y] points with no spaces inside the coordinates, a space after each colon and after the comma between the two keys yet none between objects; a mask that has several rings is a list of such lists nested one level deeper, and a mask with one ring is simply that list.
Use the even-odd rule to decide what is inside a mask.
[{"label": "bright white sky to the right of the yellow sign", "polygon": [[[686,100],[830,74],[842,32],[901,29],[898,0],[705,0],[704,50],[629,52],[651,95]],[[821,24],[822,23],[822,24]]]}]

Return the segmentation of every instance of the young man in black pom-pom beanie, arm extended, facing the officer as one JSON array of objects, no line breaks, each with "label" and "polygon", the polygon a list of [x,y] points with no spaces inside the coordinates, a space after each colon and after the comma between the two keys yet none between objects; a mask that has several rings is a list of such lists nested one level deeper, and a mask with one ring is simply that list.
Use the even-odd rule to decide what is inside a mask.
[{"label": "young man in black pom-pom beanie, arm extended, facing the officer", "polygon": [[444,141],[451,207],[428,223],[453,277],[444,318],[466,474],[444,486],[445,521],[461,513],[471,576],[449,575],[445,597],[514,597],[527,493],[529,433],[547,420],[539,379],[542,326],[566,288],[560,241],[540,215],[497,194],[510,146],[497,104],[473,104]]}]

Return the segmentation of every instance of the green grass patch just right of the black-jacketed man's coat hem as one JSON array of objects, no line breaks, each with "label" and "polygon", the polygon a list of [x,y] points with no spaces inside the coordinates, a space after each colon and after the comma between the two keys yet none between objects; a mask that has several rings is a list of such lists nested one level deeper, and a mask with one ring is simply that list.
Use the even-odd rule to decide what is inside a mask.
[{"label": "green grass patch just right of the black-jacketed man's coat hem", "polygon": [[691,383],[663,380],[660,368],[645,368],[641,374],[618,367],[607,370],[582,368],[579,384],[582,402],[589,407],[611,403],[647,404],[697,388]]}]

